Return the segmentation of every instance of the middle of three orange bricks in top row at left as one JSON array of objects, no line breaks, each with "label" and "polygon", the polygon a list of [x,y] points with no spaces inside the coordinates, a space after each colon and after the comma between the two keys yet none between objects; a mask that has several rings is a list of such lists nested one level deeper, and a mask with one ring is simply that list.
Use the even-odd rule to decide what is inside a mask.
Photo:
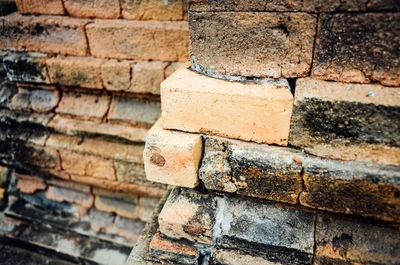
[{"label": "middle of three orange bricks in top row at left", "polygon": [[64,6],[72,17],[119,18],[119,0],[64,0]]}]

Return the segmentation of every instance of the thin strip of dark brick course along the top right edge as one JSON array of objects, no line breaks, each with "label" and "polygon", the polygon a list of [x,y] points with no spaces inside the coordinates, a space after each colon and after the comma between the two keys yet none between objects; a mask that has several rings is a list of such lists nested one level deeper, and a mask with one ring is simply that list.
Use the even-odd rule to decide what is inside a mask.
[{"label": "thin strip of dark brick course along the top right edge", "polygon": [[303,12],[343,12],[399,10],[396,0],[188,0],[190,11],[303,11]]}]

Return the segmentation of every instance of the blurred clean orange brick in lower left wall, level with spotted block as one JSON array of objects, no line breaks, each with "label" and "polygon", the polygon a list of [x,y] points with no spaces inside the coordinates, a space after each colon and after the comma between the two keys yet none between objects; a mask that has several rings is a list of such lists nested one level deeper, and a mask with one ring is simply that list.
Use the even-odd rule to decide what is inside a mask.
[{"label": "blurred clean orange brick in lower left wall, level with spotted block", "polygon": [[113,161],[91,155],[60,150],[61,165],[70,174],[115,180]]}]

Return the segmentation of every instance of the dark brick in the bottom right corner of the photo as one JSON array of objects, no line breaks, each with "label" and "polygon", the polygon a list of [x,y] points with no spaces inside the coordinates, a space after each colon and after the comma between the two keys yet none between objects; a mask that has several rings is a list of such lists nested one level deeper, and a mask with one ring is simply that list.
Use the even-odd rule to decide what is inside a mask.
[{"label": "dark brick in the bottom right corner of the photo", "polygon": [[400,263],[398,228],[322,214],[315,239],[317,265]]}]

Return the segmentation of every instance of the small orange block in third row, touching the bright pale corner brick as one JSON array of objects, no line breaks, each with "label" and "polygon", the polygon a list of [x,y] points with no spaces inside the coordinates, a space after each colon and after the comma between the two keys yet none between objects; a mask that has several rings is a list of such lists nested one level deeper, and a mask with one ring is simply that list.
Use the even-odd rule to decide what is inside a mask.
[{"label": "small orange block in third row, touching the bright pale corner brick", "polygon": [[164,62],[138,62],[132,67],[129,91],[159,95],[166,67],[167,63]]}]

